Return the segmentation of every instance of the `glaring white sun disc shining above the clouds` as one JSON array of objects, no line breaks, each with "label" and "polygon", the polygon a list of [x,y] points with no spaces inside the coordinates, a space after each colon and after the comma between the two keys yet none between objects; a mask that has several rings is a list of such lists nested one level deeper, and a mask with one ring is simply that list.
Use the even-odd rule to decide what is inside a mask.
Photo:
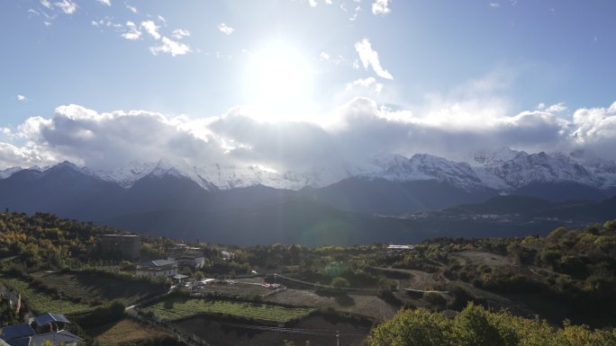
[{"label": "glaring white sun disc shining above the clouds", "polygon": [[269,43],[249,55],[244,86],[264,120],[297,120],[312,99],[313,68],[294,46]]}]

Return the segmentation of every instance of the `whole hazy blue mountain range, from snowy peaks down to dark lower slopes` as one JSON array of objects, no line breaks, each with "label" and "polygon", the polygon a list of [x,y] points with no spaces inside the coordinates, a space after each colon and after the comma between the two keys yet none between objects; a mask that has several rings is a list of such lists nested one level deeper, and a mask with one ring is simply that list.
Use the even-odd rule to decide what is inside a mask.
[{"label": "whole hazy blue mountain range, from snowy peaks down to dark lower slopes", "polygon": [[[558,225],[556,219],[611,218],[613,162],[506,148],[477,153],[468,161],[381,155],[352,167],[285,173],[255,165],[195,167],[168,160],[111,171],[68,162],[14,167],[0,171],[0,208],[237,244],[415,242],[435,235],[471,236],[468,232],[477,236],[481,226],[448,223],[453,215],[466,222],[480,211],[551,218],[539,222],[545,226]],[[408,217],[420,210],[435,211],[430,222]],[[407,217],[399,217],[403,215]],[[537,222],[525,229],[542,231]]]}]

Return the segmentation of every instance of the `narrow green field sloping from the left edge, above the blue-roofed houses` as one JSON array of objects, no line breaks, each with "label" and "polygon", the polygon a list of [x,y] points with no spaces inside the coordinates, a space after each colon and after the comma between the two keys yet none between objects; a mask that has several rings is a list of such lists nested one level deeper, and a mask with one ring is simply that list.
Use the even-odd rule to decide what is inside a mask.
[{"label": "narrow green field sloping from the left edge, above the blue-roofed houses", "polygon": [[[0,274],[0,282],[2,282],[5,286],[13,288],[15,291],[19,292],[19,294],[21,294],[25,299],[27,306],[29,306],[35,313],[42,314],[46,312],[60,312],[59,297],[51,297],[47,293],[41,292],[36,288],[32,288],[28,282],[21,279],[7,278],[2,274]],[[62,314],[65,315],[82,313],[92,309],[92,306],[81,303],[73,303],[67,299],[62,299],[61,307]]]}]

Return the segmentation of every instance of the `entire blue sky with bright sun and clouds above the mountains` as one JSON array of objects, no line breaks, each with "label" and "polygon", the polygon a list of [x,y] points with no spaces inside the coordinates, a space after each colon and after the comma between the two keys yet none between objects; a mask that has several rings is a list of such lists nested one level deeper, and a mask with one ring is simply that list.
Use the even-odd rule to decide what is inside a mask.
[{"label": "entire blue sky with bright sun and clouds above the mountains", "polygon": [[0,169],[616,159],[611,0],[0,2]]}]

